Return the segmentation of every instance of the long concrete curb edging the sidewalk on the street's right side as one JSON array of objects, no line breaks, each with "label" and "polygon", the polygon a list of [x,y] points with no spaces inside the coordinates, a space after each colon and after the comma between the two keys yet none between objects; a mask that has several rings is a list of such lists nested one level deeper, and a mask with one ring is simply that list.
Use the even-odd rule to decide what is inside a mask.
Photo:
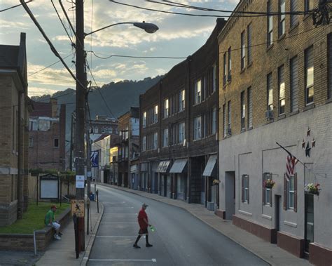
[{"label": "long concrete curb edging the sidewalk on the street's right side", "polygon": [[181,208],[185,211],[187,211],[188,213],[190,213],[191,215],[193,215],[195,218],[197,218],[198,220],[204,222],[206,225],[209,225],[209,227],[212,227],[214,230],[216,230],[217,232],[219,232],[220,234],[222,234],[224,237],[227,237],[228,239],[234,241],[237,245],[239,246],[242,246],[242,248],[246,249],[247,251],[249,251],[250,253],[256,255],[257,258],[260,258],[261,260],[263,260],[264,262],[268,263],[268,265],[275,265],[273,262],[269,261],[269,260],[266,260],[266,258],[263,258],[261,255],[258,255],[257,253],[255,253],[254,251],[251,250],[251,248],[248,248],[247,246],[243,246],[239,241],[237,241],[236,239],[233,239],[232,237],[229,237],[228,235],[226,234],[223,234],[223,232],[220,232],[219,230],[217,230],[213,225],[209,224],[209,222],[203,220],[202,218],[200,218],[198,215],[196,215],[195,213],[189,211],[188,209],[184,208],[184,207],[181,207],[181,206],[177,206],[175,204],[172,204],[172,203],[168,203],[168,202],[165,202],[165,201],[162,201],[160,199],[153,199],[151,197],[148,197],[147,195],[144,195],[144,194],[139,194],[137,192],[134,192],[134,191],[128,191],[127,189],[123,189],[122,187],[117,187],[117,186],[113,186],[113,185],[109,185],[109,184],[104,184],[104,183],[97,183],[97,185],[102,185],[104,187],[111,187],[113,189],[118,189],[118,190],[121,190],[121,191],[124,191],[124,192],[127,192],[127,193],[131,193],[131,194],[136,194],[138,196],[141,196],[141,197],[144,197],[146,199],[152,199],[154,201],[159,201],[159,202],[162,202],[164,204],[169,204],[169,205],[172,205],[174,207],[178,207],[178,208]]}]

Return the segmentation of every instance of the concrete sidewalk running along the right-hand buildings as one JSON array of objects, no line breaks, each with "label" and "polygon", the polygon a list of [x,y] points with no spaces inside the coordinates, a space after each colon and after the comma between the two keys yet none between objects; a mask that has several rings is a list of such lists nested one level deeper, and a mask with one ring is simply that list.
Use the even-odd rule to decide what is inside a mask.
[{"label": "concrete sidewalk running along the right-hand buildings", "polygon": [[128,189],[126,187],[118,187],[108,184],[98,185],[112,187],[114,189],[119,189],[130,192],[132,194],[137,194],[148,199],[161,201],[166,204],[177,206],[179,208],[184,208],[196,218],[202,220],[202,222],[205,222],[207,225],[221,232],[221,234],[225,235],[229,239],[232,239],[237,244],[243,246],[251,253],[254,253],[258,258],[261,258],[262,260],[265,260],[265,262],[268,262],[270,265],[311,265],[309,261],[296,258],[296,256],[291,255],[291,253],[288,253],[287,251],[284,251],[277,245],[270,244],[267,241],[264,241],[263,239],[254,236],[254,234],[250,234],[249,232],[244,231],[239,227],[236,227],[232,224],[230,220],[222,220],[212,211],[208,211],[207,208],[205,208],[201,204],[187,204],[184,201],[162,197],[158,194],[151,194],[134,189]]}]

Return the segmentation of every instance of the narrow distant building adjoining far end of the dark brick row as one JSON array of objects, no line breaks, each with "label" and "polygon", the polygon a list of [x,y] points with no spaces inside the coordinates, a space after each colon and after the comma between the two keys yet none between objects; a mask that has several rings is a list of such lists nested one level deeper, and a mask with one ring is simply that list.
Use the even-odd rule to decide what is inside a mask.
[{"label": "narrow distant building adjoining far end of the dark brick row", "polygon": [[118,185],[132,187],[130,161],[139,156],[139,107],[118,117],[118,131]]}]

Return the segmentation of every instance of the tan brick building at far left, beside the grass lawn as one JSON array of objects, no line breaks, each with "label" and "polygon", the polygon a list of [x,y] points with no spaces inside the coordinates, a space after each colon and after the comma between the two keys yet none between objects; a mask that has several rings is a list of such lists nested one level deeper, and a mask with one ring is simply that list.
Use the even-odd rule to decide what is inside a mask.
[{"label": "tan brick building at far left, beside the grass lawn", "polygon": [[29,112],[25,33],[0,45],[0,226],[22,218],[28,204]]}]

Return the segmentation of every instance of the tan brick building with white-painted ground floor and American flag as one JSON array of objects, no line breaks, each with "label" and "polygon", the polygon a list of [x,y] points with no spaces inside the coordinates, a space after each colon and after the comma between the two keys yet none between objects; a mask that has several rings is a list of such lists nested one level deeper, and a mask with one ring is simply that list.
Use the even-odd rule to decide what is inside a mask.
[{"label": "tan brick building with white-painted ground floor and American flag", "polygon": [[[314,27],[318,0],[262,2],[235,11],[270,15],[233,15],[219,34],[219,213],[331,265],[332,28]],[[310,183],[319,196],[305,192]]]}]

